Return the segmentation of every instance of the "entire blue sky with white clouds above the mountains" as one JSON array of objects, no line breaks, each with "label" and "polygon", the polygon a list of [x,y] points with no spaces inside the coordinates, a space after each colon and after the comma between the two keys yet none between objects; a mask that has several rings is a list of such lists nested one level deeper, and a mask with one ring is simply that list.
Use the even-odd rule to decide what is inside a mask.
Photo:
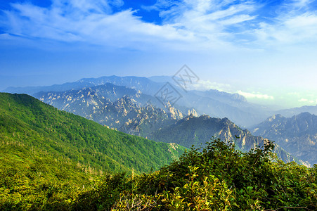
[{"label": "entire blue sky with white clouds above the mountains", "polygon": [[317,104],[317,1],[0,1],[0,90],[174,75],[251,102]]}]

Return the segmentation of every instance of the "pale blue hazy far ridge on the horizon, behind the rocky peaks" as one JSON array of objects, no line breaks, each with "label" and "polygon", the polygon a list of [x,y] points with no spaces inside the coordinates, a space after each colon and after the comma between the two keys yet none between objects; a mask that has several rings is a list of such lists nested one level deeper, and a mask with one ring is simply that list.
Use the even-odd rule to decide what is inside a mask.
[{"label": "pale blue hazy far ridge on the horizon, behind the rocky peaks", "polygon": [[[271,110],[264,106],[248,103],[243,96],[238,94],[228,94],[221,91],[184,91],[170,77],[150,77],[157,82],[146,77],[117,77],[106,76],[99,78],[85,78],[77,82],[53,85],[49,87],[25,87],[25,88],[8,88],[5,91],[10,93],[25,93],[37,96],[37,92],[51,91],[69,91],[83,88],[95,87],[103,84],[114,84],[117,86],[136,89],[143,94],[155,97],[160,89],[170,82],[174,89],[179,92],[179,101],[173,105],[182,113],[187,113],[188,108],[193,108],[199,114],[207,114],[213,117],[228,117],[241,127],[248,127],[257,124],[272,115]],[[162,103],[156,103],[156,107],[165,107]]]}]

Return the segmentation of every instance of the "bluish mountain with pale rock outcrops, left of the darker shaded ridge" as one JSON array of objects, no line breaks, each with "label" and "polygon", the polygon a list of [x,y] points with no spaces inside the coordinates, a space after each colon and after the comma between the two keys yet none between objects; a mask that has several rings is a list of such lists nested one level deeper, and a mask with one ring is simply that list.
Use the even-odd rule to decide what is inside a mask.
[{"label": "bluish mountain with pale rock outcrops, left of the darker shaded ridge", "polygon": [[[113,84],[63,92],[39,92],[34,96],[60,110],[117,128],[121,132],[145,137],[184,116],[169,103],[165,109],[156,108],[153,103],[157,99],[153,96]],[[198,115],[193,109],[188,109],[188,113]]]}]

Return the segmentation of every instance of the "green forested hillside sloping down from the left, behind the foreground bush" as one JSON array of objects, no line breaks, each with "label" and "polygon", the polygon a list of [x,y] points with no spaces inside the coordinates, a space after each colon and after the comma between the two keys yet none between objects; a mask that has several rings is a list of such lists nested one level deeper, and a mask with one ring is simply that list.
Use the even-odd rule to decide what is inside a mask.
[{"label": "green forested hillside sloping down from the left, behind the foreground bush", "polygon": [[86,189],[84,184],[108,172],[157,170],[183,151],[176,144],[108,129],[25,94],[0,94],[0,204],[4,207],[20,210],[71,200]]}]

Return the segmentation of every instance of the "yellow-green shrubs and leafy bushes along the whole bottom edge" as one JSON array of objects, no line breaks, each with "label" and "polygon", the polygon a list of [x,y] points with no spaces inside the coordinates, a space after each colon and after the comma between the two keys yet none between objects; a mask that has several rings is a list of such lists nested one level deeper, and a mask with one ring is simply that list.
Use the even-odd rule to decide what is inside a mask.
[{"label": "yellow-green shrubs and leafy bushes along the whole bottom edge", "polygon": [[[84,187],[1,172],[2,210],[316,210],[317,166],[285,164],[273,144],[248,153],[213,139],[156,172],[106,174]],[[14,194],[22,194],[20,201]],[[32,196],[32,197],[31,197]]]}]

